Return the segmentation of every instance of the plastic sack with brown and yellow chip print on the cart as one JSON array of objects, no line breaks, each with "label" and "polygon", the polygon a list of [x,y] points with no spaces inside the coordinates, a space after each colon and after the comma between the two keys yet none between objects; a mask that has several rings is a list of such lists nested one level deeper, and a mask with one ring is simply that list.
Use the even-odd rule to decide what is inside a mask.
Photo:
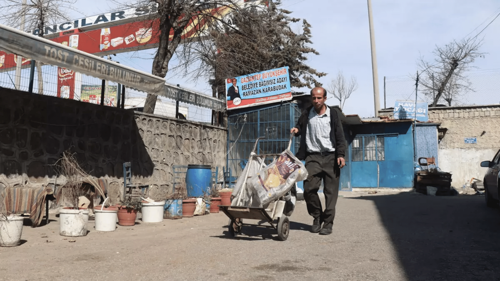
[{"label": "plastic sack with brown and yellow chip print on the cart", "polygon": [[277,159],[250,179],[250,187],[263,205],[288,192],[295,182],[307,178],[307,170],[290,150],[285,149]]}]

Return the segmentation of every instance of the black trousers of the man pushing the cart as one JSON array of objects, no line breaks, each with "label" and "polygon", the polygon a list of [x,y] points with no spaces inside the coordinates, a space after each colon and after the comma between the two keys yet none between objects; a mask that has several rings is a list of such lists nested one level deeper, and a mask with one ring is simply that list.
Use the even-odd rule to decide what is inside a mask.
[{"label": "black trousers of the man pushing the cart", "polygon": [[[312,217],[320,217],[323,227],[330,228],[335,218],[335,205],[338,198],[338,183],[340,178],[340,167],[337,164],[335,153],[325,156],[307,155],[305,158],[307,179],[304,180],[304,199],[307,212]],[[323,180],[324,210],[317,191]]]}]

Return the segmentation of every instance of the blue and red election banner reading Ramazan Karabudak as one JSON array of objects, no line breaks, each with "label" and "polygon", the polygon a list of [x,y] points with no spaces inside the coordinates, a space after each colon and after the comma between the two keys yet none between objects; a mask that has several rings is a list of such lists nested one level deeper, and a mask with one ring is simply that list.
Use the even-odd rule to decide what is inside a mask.
[{"label": "blue and red election banner reading Ramazan Karabudak", "polygon": [[291,99],[288,66],[226,79],[227,109]]}]

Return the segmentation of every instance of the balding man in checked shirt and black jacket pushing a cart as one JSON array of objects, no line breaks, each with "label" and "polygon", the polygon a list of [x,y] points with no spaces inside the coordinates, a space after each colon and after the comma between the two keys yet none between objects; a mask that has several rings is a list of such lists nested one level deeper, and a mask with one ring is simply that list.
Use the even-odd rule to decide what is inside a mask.
[{"label": "balding man in checked shirt and black jacket pushing a cart", "polygon": [[[300,136],[296,153],[305,159],[308,175],[304,180],[304,199],[307,212],[313,217],[311,232],[328,235],[332,232],[335,205],[338,197],[340,168],[345,165],[345,137],[337,112],[327,106],[326,90],[311,90],[312,105],[302,111],[297,124],[290,129]],[[323,180],[324,210],[317,191]]]}]

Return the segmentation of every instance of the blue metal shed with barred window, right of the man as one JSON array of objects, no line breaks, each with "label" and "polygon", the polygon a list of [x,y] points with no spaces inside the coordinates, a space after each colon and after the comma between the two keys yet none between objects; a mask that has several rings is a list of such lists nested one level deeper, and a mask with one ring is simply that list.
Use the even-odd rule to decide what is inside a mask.
[{"label": "blue metal shed with barred window, right of the man", "polygon": [[347,141],[350,170],[342,171],[342,185],[349,178],[351,188],[413,186],[412,120],[364,120],[349,127]]}]

